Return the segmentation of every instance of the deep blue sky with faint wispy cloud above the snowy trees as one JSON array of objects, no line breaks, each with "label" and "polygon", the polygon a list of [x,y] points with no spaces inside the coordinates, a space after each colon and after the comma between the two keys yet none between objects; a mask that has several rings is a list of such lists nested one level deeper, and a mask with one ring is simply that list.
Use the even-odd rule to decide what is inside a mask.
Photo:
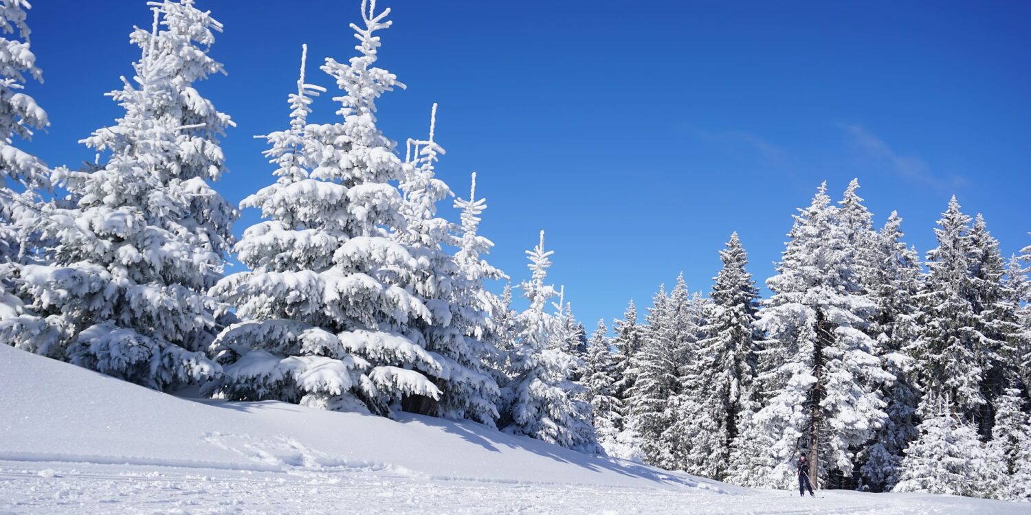
[{"label": "deep blue sky with faint wispy cloud above the snowy trees", "polygon": [[[142,0],[40,1],[29,92],[53,127],[31,148],[51,165],[92,160],[76,141],[120,109],[138,57]],[[212,55],[228,76],[198,84],[238,124],[224,141],[230,201],[268,184],[252,138],[286,126],[301,43],[309,81],[354,53],[358,0],[199,0],[225,26]],[[643,308],[680,271],[707,290],[732,231],[765,280],[796,207],[852,177],[880,225],[933,246],[956,194],[1007,255],[1031,244],[1031,2],[428,2],[393,7],[380,65],[407,91],[379,103],[393,139],[423,137],[439,102],[438,172],[460,195],[479,173],[493,263],[526,276],[547,231],[551,278],[589,330]],[[329,96],[317,121],[330,119]],[[403,150],[403,144],[402,144]],[[247,211],[239,234],[257,220]]]}]

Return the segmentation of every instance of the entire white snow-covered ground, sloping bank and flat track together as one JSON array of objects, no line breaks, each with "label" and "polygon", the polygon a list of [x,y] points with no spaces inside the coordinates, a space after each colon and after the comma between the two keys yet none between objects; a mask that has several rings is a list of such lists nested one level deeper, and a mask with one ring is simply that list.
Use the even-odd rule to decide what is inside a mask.
[{"label": "entire white snow-covered ground, sloping bank and flat track together", "polygon": [[751,490],[471,422],[180,399],[0,345],[0,514],[1031,513]]}]

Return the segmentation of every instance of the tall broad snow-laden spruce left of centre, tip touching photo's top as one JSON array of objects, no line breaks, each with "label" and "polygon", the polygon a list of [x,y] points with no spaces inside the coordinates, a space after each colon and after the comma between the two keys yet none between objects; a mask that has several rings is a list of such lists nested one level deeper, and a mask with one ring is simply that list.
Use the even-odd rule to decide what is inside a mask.
[{"label": "tall broad snow-laden spruce left of centre, tip touching photo's top", "polygon": [[[214,288],[254,320],[227,329],[217,342],[229,350],[222,354],[227,365],[243,360],[220,386],[226,396],[286,394],[328,409],[364,404],[385,415],[408,397],[440,399],[435,381],[447,377],[447,363],[426,349],[420,329],[447,310],[431,309],[413,293],[431,265],[392,236],[406,230],[394,185],[405,164],[375,125],[375,100],[403,87],[374,66],[375,32],[390,27],[390,9],[376,13],[363,1],[361,10],[363,26],[351,24],[359,55],[347,63],[327,58],[322,66],[341,91],[334,100],[342,122],[306,125],[302,152],[311,170],[281,176],[243,202],[270,220],[246,235],[248,258],[241,249],[253,271]],[[250,345],[261,351],[253,365]]]}]

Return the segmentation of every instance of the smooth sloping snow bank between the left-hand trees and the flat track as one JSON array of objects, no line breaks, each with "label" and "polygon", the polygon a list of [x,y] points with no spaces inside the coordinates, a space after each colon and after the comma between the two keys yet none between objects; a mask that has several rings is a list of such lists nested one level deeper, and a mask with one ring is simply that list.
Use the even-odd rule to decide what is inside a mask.
[{"label": "smooth sloping snow bank between the left-hand trees and the flat track", "polygon": [[744,491],[474,422],[182,399],[3,345],[0,392],[0,460]]}]

